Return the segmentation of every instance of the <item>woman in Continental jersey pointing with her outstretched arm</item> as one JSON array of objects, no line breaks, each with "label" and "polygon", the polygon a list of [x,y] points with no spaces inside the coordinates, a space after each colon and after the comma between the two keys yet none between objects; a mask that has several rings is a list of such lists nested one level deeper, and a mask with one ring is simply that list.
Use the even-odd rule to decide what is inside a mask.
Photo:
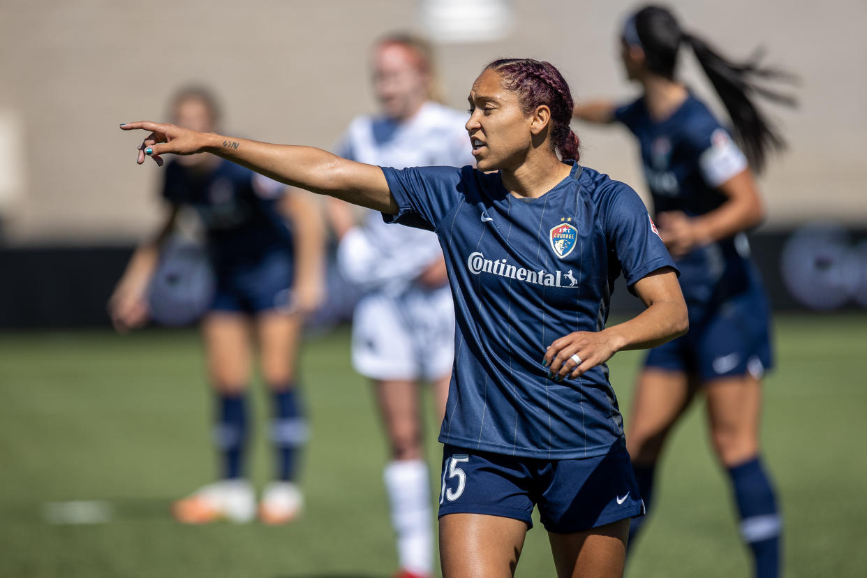
[{"label": "woman in Continental jersey pointing with her outstretched arm", "polygon": [[[605,361],[686,331],[675,266],[636,193],[577,164],[570,90],[551,64],[492,62],[469,102],[478,168],[395,170],[167,124],[121,128],[151,131],[139,163],[214,153],[436,232],[457,327],[440,431],[443,575],[513,575],[538,505],[558,575],[619,576],[642,502]],[[646,308],[605,328],[621,273]]]}]

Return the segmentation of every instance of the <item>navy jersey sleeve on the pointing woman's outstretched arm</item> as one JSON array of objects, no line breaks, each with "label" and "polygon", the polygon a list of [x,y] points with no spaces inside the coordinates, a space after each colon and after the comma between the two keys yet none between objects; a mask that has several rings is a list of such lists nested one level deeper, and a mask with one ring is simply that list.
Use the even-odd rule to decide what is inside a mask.
[{"label": "navy jersey sleeve on the pointing woman's outstretched arm", "polygon": [[382,214],[386,223],[436,231],[460,198],[461,169],[453,166],[381,167],[398,206],[396,215]]}]

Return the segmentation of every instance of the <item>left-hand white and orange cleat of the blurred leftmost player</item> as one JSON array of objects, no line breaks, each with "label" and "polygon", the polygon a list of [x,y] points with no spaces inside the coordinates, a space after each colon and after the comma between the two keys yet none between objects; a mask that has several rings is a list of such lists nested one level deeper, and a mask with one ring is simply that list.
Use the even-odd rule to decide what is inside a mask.
[{"label": "left-hand white and orange cleat of the blurred leftmost player", "polygon": [[247,523],[256,516],[256,494],[246,480],[221,480],[173,503],[172,514],[180,523]]}]

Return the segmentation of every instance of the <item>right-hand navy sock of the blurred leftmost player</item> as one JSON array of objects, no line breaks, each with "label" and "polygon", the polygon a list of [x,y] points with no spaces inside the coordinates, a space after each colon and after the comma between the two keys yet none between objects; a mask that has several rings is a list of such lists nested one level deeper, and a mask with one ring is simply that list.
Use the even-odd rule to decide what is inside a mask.
[{"label": "right-hand navy sock of the blurred leftmost player", "polygon": [[271,438],[277,449],[277,479],[293,481],[298,476],[301,448],[307,441],[307,421],[301,394],[295,384],[272,387],[274,423]]}]

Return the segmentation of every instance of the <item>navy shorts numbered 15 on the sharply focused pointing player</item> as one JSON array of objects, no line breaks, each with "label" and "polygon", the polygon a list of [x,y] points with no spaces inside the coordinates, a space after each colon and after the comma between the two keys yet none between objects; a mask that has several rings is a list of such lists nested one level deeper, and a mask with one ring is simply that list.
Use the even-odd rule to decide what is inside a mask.
[{"label": "navy shorts numbered 15 on the sharply focused pointing player", "polygon": [[644,514],[625,447],[551,460],[445,445],[441,479],[440,517],[486,514],[521,520],[529,529],[538,506],[545,529],[570,534]]}]

